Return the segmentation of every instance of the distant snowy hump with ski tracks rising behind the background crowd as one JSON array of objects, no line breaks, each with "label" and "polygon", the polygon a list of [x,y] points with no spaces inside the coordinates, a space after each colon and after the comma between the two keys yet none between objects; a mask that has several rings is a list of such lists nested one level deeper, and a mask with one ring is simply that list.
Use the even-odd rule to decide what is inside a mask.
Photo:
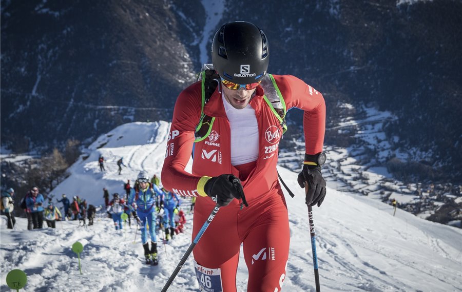
[{"label": "distant snowy hump with ski tracks rising behind the background crowd", "polygon": [[[133,183],[142,170],[150,177],[160,176],[169,128],[165,121],[133,122],[101,135],[88,147],[87,154],[71,166],[70,177],[51,193],[57,197],[79,196],[89,204],[99,205],[103,187],[107,187],[110,194],[122,193],[123,183],[128,179]],[[105,160],[104,172],[98,163],[100,155]],[[126,167],[122,166],[119,175],[117,160],[121,157]]]}]

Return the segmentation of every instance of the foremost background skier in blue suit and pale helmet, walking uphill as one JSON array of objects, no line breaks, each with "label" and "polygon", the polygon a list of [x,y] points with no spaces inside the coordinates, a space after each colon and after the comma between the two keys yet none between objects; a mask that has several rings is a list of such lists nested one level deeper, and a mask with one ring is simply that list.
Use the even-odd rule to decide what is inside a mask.
[{"label": "foremost background skier in blue suit and pale helmet, walking uphill", "polygon": [[[159,204],[159,197],[162,197],[163,192],[157,185],[149,184],[148,176],[143,171],[138,174],[137,181],[139,186],[130,190],[128,205],[133,217],[141,224],[141,241],[146,263],[157,265],[156,204]],[[151,248],[146,228],[149,228]]]}]

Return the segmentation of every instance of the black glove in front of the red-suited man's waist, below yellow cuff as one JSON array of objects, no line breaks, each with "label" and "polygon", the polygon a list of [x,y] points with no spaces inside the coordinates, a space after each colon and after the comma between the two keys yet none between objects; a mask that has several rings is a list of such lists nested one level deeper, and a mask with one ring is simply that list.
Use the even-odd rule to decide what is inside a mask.
[{"label": "black glove in front of the red-suited man's waist, below yellow cuff", "polygon": [[210,178],[204,185],[204,191],[220,207],[227,206],[234,198],[242,199],[245,206],[248,206],[241,181],[232,174]]}]

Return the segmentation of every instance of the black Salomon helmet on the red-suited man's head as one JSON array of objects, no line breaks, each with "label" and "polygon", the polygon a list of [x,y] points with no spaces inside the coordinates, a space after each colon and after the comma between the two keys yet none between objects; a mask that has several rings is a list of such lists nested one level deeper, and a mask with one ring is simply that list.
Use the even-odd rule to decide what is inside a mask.
[{"label": "black Salomon helmet on the red-suited man's head", "polygon": [[260,81],[268,70],[265,34],[248,22],[224,24],[212,42],[212,62],[220,77],[238,84]]}]

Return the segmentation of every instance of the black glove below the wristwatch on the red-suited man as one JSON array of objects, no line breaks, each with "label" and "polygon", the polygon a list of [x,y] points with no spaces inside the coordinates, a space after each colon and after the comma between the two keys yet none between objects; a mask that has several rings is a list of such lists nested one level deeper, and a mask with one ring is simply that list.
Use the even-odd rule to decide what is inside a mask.
[{"label": "black glove below the wristwatch on the red-suited man", "polygon": [[298,174],[298,184],[305,187],[308,183],[308,192],[306,192],[305,203],[318,207],[322,204],[325,197],[325,180],[321,174],[321,167],[316,165],[303,165],[303,170]]}]

